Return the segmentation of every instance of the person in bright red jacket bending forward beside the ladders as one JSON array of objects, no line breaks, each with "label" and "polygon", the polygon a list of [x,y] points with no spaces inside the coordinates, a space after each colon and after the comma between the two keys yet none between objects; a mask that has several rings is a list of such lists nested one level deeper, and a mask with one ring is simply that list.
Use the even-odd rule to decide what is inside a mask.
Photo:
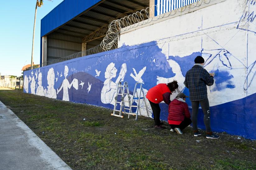
[{"label": "person in bright red jacket bending forward beside the ladders", "polygon": [[160,83],[155,87],[152,87],[147,92],[146,98],[149,100],[150,106],[154,114],[155,128],[164,129],[163,123],[160,122],[160,106],[159,103],[164,101],[167,105],[171,103],[170,96],[172,92],[176,92],[178,88],[178,82],[173,80],[173,82],[165,84]]}]

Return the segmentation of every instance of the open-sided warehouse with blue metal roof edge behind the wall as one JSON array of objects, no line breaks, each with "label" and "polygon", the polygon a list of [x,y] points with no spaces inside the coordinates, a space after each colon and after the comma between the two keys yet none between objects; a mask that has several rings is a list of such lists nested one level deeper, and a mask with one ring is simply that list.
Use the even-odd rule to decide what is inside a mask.
[{"label": "open-sided warehouse with blue metal roof edge behind the wall", "polygon": [[149,0],[64,0],[41,20],[41,66],[99,45],[111,21],[147,7]]}]

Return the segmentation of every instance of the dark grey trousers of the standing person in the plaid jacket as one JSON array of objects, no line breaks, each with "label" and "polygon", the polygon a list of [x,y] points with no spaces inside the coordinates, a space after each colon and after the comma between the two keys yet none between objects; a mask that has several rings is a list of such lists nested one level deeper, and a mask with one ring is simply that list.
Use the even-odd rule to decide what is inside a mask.
[{"label": "dark grey trousers of the standing person in the plaid jacket", "polygon": [[206,132],[211,132],[210,126],[210,106],[208,98],[201,100],[201,101],[191,101],[192,104],[192,123],[193,123],[193,130],[197,130],[197,114],[199,109],[199,103],[204,113],[204,125],[206,127]]}]

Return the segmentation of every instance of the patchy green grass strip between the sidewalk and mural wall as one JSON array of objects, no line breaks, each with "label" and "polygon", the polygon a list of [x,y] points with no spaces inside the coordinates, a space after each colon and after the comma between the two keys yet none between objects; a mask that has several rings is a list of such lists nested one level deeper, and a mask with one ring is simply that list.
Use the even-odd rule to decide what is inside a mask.
[{"label": "patchy green grass strip between the sidewalk and mural wall", "polygon": [[73,169],[256,169],[256,143],[154,129],[146,117],[124,119],[112,110],[0,90],[7,105]]}]

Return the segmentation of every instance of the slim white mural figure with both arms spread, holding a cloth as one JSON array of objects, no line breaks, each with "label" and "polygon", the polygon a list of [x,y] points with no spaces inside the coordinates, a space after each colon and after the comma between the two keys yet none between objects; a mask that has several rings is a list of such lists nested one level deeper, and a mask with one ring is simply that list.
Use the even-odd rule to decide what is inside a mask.
[{"label": "slim white mural figure with both arms spread, holding a cloth", "polygon": [[73,81],[69,84],[69,80],[67,79],[67,76],[69,74],[69,68],[68,66],[65,65],[65,69],[64,69],[64,77],[65,79],[63,80],[61,87],[59,89],[57,89],[57,94],[61,91],[61,89],[63,88],[63,98],[62,100],[64,101],[69,101],[69,91],[68,89],[70,89],[74,83],[74,81],[76,80],[75,78],[73,79]]}]

